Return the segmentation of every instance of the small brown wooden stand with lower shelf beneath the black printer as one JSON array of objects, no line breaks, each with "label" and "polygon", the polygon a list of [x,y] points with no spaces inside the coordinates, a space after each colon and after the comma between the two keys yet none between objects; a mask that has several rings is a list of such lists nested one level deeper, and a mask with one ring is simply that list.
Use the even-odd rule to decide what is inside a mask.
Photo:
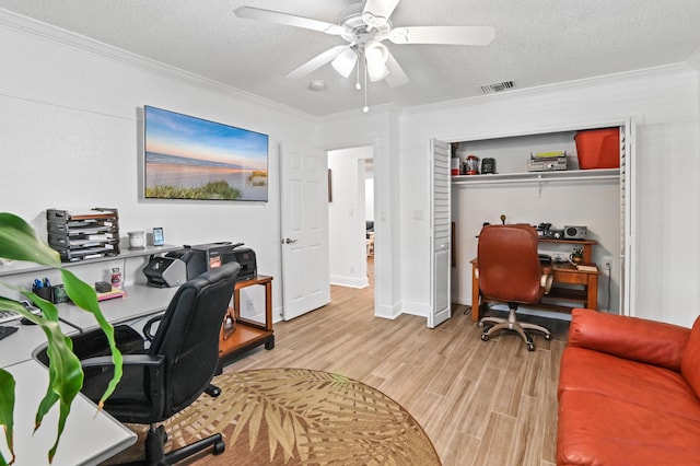
[{"label": "small brown wooden stand with lower shelf beneath the black printer", "polygon": [[[241,317],[241,290],[255,284],[265,287],[265,323]],[[267,350],[275,348],[272,277],[262,275],[236,283],[233,291],[233,308],[229,310],[221,326],[219,359],[230,359],[259,345],[265,345]]]}]

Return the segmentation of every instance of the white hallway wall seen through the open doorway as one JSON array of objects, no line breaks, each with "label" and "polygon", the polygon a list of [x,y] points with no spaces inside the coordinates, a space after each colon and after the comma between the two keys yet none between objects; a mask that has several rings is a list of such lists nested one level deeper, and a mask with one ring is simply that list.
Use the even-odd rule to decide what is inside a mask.
[{"label": "white hallway wall seen through the open doorway", "polygon": [[332,173],[332,202],[328,205],[332,284],[353,288],[369,286],[364,160],[372,156],[372,147],[328,152],[328,167]]}]

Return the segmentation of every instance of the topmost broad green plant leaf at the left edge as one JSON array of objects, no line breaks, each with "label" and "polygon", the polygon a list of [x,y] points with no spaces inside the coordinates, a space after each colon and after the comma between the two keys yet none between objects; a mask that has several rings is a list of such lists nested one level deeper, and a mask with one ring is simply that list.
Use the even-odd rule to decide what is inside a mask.
[{"label": "topmost broad green plant leaf at the left edge", "polygon": [[60,255],[36,235],[20,217],[0,212],[0,257],[60,267]]}]

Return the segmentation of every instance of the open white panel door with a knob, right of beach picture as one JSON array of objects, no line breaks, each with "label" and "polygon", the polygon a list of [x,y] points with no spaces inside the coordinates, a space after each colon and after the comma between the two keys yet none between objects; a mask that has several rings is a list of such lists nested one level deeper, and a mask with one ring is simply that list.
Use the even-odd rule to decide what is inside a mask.
[{"label": "open white panel door with a knob, right of beach picture", "polygon": [[281,147],[282,316],[330,302],[328,160],[307,147]]}]

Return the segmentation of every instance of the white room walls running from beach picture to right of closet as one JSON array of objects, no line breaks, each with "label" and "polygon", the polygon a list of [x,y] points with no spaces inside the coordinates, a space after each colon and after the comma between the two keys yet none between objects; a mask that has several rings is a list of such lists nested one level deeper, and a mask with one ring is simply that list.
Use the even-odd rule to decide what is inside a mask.
[{"label": "white room walls running from beach picture to right of closet", "polygon": [[[160,225],[171,244],[242,241],[256,251],[261,273],[281,279],[278,144],[372,145],[375,313],[425,314],[430,138],[488,139],[633,116],[640,179],[635,313],[685,325],[698,314],[697,69],[668,67],[404,112],[358,108],[312,119],[57,30],[9,15],[0,20],[2,210],[39,231],[48,207],[118,207],[124,232]],[[142,201],[138,118],[147,104],[270,135],[270,201]],[[415,220],[417,210],[423,220]],[[281,287],[272,289],[278,315]]]}]

